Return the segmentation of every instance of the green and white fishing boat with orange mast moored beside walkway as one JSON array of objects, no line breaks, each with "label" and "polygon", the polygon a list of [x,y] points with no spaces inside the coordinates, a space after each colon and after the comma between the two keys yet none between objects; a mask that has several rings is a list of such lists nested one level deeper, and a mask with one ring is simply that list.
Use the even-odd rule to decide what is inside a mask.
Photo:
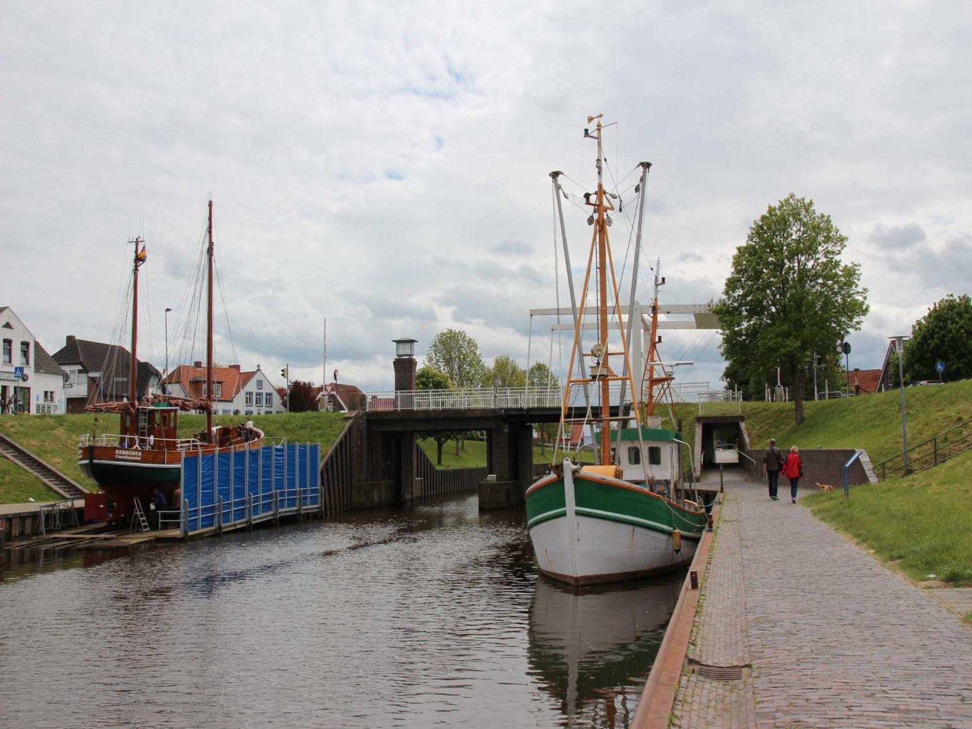
[{"label": "green and white fishing boat with orange mast moored beside walkway", "polygon": [[[570,458],[558,462],[556,451],[550,472],[527,490],[527,527],[542,573],[575,585],[631,579],[646,574],[687,565],[708,524],[705,508],[698,501],[685,500],[678,483],[679,449],[676,434],[660,428],[660,422],[645,427],[641,395],[632,377],[629,343],[636,314],[634,298],[637,289],[644,193],[650,163],[642,162],[640,217],[633,266],[632,304],[627,332],[618,300],[618,286],[611,259],[608,213],[614,210],[611,196],[604,188],[602,115],[595,132],[585,130],[585,137],[598,144],[596,194],[585,193],[593,213],[588,223],[594,226],[579,307],[573,300],[574,337],[568,379],[561,408],[561,432],[569,432],[576,422],[595,426],[598,465],[572,463]],[[555,199],[560,207],[558,176],[551,173]],[[592,199],[593,198],[593,199]],[[563,218],[563,213],[561,213]],[[561,226],[562,230],[563,223]],[[598,340],[589,351],[581,349],[584,330],[585,302],[591,274],[595,274],[593,294],[597,301]],[[608,289],[608,286],[610,287]],[[608,305],[611,295],[612,306]],[[620,333],[620,349],[608,343],[611,309]],[[657,312],[657,287],[656,305]],[[657,314],[656,314],[657,316]],[[657,324],[655,325],[655,328]],[[652,333],[651,354],[656,334]],[[611,358],[620,358],[623,372],[618,375],[610,366]],[[590,360],[587,371],[587,360]],[[574,364],[578,373],[574,376]],[[651,359],[649,357],[649,365]],[[654,384],[654,369],[647,378],[649,391]],[[572,417],[575,394],[582,390],[586,407],[582,418]],[[625,394],[632,395],[630,408]],[[653,401],[653,400],[652,400]],[[634,427],[626,427],[634,421]]]}]

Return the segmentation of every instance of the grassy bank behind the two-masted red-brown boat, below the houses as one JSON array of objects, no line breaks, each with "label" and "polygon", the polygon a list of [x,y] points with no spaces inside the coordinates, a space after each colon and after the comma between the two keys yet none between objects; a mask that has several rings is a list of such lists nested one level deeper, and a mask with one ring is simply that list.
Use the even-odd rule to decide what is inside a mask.
[{"label": "grassy bank behind the two-masted red-brown boat, below the houses", "polygon": [[[224,415],[214,419],[224,425],[242,423],[246,416]],[[346,419],[342,413],[306,412],[283,413],[281,415],[257,415],[252,420],[267,436],[282,435],[291,442],[320,443],[326,453],[337,436],[344,430]],[[204,430],[205,415],[179,416],[179,434],[188,436]],[[118,433],[118,415],[5,415],[0,417],[0,433],[14,438],[20,445],[38,458],[49,463],[73,478],[82,486],[94,488],[94,484],[78,468],[78,440],[82,434]],[[0,503],[19,503],[27,501],[27,496],[40,500],[50,500],[53,492],[39,478],[11,464],[6,459],[0,461]],[[13,469],[13,470],[12,470]],[[8,493],[9,492],[9,493]],[[35,493],[37,492],[37,493]],[[21,498],[22,497],[22,498]],[[53,497],[57,498],[56,495]]]}]

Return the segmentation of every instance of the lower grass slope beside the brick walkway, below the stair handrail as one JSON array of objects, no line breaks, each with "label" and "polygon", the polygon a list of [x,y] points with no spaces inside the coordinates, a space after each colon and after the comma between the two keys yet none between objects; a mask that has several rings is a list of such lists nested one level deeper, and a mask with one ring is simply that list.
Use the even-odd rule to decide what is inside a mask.
[{"label": "lower grass slope beside the brick walkway, below the stair handrail", "polygon": [[[880,485],[807,497],[817,518],[916,580],[972,585],[972,451]],[[934,575],[934,576],[930,576]]]}]

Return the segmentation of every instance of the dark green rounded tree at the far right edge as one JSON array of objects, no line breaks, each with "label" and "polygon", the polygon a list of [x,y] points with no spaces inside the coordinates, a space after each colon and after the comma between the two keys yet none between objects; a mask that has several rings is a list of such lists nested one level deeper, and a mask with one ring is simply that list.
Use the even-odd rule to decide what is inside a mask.
[{"label": "dark green rounded tree at the far right edge", "polygon": [[939,360],[948,367],[949,379],[972,377],[972,299],[968,295],[950,294],[936,301],[912,326],[911,339],[905,343],[906,379],[938,379],[935,363]]}]

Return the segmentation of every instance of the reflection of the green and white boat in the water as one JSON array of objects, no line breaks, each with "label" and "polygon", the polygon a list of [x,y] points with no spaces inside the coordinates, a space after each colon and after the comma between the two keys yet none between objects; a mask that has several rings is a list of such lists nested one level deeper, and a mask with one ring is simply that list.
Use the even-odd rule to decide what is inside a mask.
[{"label": "reflection of the green and white boat in the water", "polygon": [[571,726],[630,724],[681,580],[575,588],[538,579],[530,669],[566,717],[587,715]]}]

